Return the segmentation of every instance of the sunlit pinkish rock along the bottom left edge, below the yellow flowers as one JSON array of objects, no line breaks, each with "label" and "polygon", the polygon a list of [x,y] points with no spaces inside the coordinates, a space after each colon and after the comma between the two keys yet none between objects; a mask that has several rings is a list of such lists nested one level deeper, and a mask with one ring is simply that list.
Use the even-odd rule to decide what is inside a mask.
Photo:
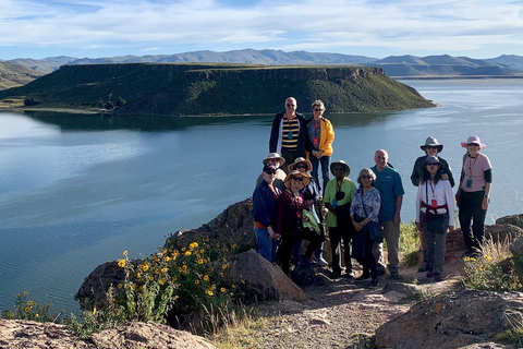
[{"label": "sunlit pinkish rock along the bottom left edge, below the yellow flowers", "polygon": [[214,349],[206,339],[167,325],[133,322],[83,341],[63,325],[0,318],[0,348],[9,349]]}]

